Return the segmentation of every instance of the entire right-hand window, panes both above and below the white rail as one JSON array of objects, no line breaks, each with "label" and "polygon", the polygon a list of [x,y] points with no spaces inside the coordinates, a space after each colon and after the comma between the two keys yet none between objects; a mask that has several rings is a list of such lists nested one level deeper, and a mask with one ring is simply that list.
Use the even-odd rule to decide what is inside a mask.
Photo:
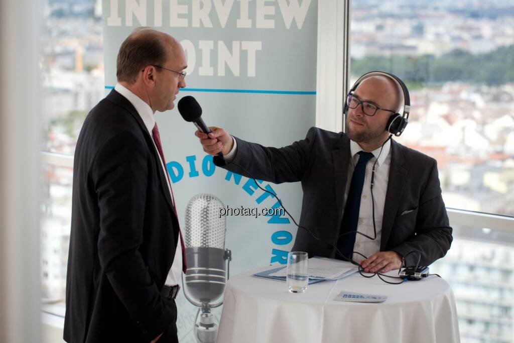
[{"label": "entire right-hand window, panes both above and below the white rail", "polygon": [[[452,286],[463,343],[514,342],[513,9],[502,0],[352,2],[351,82],[373,70],[406,82],[411,115],[395,139],[437,160],[445,204],[460,209],[450,213],[452,247],[430,272]],[[505,231],[484,228],[495,220]]]}]

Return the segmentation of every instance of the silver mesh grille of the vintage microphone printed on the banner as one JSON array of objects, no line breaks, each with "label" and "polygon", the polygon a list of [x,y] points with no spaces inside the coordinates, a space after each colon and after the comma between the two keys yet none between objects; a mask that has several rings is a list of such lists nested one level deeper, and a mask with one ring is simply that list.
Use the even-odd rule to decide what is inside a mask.
[{"label": "silver mesh grille of the vintage microphone printed on the banner", "polygon": [[186,207],[186,247],[225,249],[226,216],[219,209],[225,207],[212,194],[197,194]]}]

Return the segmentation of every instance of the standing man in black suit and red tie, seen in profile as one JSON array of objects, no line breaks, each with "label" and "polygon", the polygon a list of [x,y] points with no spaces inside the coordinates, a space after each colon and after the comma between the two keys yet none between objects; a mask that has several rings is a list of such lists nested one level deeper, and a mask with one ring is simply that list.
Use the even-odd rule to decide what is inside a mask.
[{"label": "standing man in black suit and red tie, seen in profile", "polygon": [[185,87],[185,54],[142,28],[121,45],[115,89],[88,114],[74,161],[64,340],[178,342],[183,243],[155,111]]}]

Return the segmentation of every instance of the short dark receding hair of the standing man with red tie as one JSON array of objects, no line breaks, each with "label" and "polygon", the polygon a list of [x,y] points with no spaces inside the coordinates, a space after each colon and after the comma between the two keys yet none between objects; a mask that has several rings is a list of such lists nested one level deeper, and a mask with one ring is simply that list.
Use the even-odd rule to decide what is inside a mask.
[{"label": "short dark receding hair of the standing man with red tie", "polygon": [[134,30],[121,43],[116,60],[118,81],[136,82],[137,75],[147,65],[166,62],[166,34],[150,28]]}]

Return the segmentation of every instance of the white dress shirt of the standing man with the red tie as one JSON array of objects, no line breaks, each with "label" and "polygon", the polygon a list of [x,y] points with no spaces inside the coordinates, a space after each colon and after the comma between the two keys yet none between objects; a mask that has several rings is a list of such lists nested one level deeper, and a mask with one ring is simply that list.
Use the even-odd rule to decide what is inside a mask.
[{"label": "white dress shirt of the standing man with the red tie", "polygon": [[[159,156],[159,160],[161,162],[162,171],[164,172],[164,175],[168,173],[166,170],[166,166],[164,166],[164,162],[162,161],[162,158],[160,157],[160,154],[157,150],[157,147],[155,146],[154,137],[152,135],[152,130],[155,126],[155,119],[154,119],[154,112],[152,111],[151,107],[144,102],[141,98],[139,98],[137,95],[129,91],[127,88],[123,87],[121,84],[117,83],[114,87],[115,91],[124,96],[130,103],[134,106],[137,113],[143,120],[143,123],[146,127],[146,130],[148,130],[148,133],[150,134],[150,137],[152,137],[152,141],[154,143],[155,151],[157,152],[157,156]],[[168,177],[166,177],[166,183],[168,184],[168,190],[170,191],[170,197],[173,199],[172,192],[171,192],[171,185],[170,180]],[[173,201],[173,200],[172,200]],[[178,236],[178,239],[180,239],[180,235]],[[182,276],[182,247],[180,245],[180,242],[177,242],[177,248],[175,249],[175,257],[173,259],[173,264],[171,266],[171,269],[168,272],[168,276],[166,278],[166,285],[174,286],[179,283],[179,280]]]}]

